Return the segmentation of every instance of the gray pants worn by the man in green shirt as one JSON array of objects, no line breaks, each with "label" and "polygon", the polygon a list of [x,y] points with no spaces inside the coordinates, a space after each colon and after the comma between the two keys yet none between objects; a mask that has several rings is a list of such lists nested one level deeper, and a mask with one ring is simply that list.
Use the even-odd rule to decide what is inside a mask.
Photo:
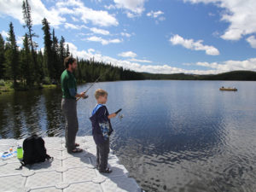
[{"label": "gray pants worn by the man in green shirt", "polygon": [[79,131],[79,121],[77,116],[77,101],[75,99],[62,98],[61,110],[64,114],[65,125],[65,138],[67,152],[72,152],[75,148],[75,140],[77,132]]}]

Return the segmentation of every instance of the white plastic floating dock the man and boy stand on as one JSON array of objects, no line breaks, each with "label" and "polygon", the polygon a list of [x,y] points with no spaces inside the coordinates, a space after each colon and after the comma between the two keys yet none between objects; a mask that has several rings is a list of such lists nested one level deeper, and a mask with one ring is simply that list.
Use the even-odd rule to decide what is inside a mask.
[{"label": "white plastic floating dock the man and boy stand on", "polygon": [[[20,167],[16,157],[0,160],[0,191],[13,192],[119,192],[142,191],[137,182],[129,177],[125,166],[119,164],[119,159],[110,152],[108,164],[111,173],[100,173],[96,165],[96,144],[90,136],[77,137],[76,143],[84,151],[78,154],[68,154],[65,148],[65,138],[44,137],[47,154],[54,160]],[[10,147],[20,144],[23,139],[0,140],[0,152],[8,151]]]}]

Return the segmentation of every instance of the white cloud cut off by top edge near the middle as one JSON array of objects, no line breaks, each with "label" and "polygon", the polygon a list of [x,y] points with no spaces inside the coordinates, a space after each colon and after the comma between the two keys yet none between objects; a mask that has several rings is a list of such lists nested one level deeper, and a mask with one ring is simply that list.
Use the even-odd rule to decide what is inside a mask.
[{"label": "white cloud cut off by top edge near the middle", "polygon": [[126,9],[128,17],[140,16],[144,11],[144,3],[146,0],[113,0],[116,7]]}]

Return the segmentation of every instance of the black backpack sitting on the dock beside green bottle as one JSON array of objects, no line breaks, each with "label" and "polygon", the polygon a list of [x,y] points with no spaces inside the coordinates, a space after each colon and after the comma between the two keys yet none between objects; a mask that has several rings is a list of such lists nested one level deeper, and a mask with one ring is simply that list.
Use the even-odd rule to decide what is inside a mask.
[{"label": "black backpack sitting on the dock beside green bottle", "polygon": [[44,139],[38,135],[27,137],[23,142],[23,160],[20,161],[22,166],[32,165],[45,160],[53,159],[49,154],[46,154],[44,147]]}]

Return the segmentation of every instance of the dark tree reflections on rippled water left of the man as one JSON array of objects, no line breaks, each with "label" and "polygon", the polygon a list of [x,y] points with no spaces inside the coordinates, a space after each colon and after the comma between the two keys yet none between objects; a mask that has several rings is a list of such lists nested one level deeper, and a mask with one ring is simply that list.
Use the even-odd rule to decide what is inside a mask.
[{"label": "dark tree reflections on rippled water left of the man", "polygon": [[19,91],[0,96],[0,136],[23,138],[33,133],[63,136],[60,91]]}]

